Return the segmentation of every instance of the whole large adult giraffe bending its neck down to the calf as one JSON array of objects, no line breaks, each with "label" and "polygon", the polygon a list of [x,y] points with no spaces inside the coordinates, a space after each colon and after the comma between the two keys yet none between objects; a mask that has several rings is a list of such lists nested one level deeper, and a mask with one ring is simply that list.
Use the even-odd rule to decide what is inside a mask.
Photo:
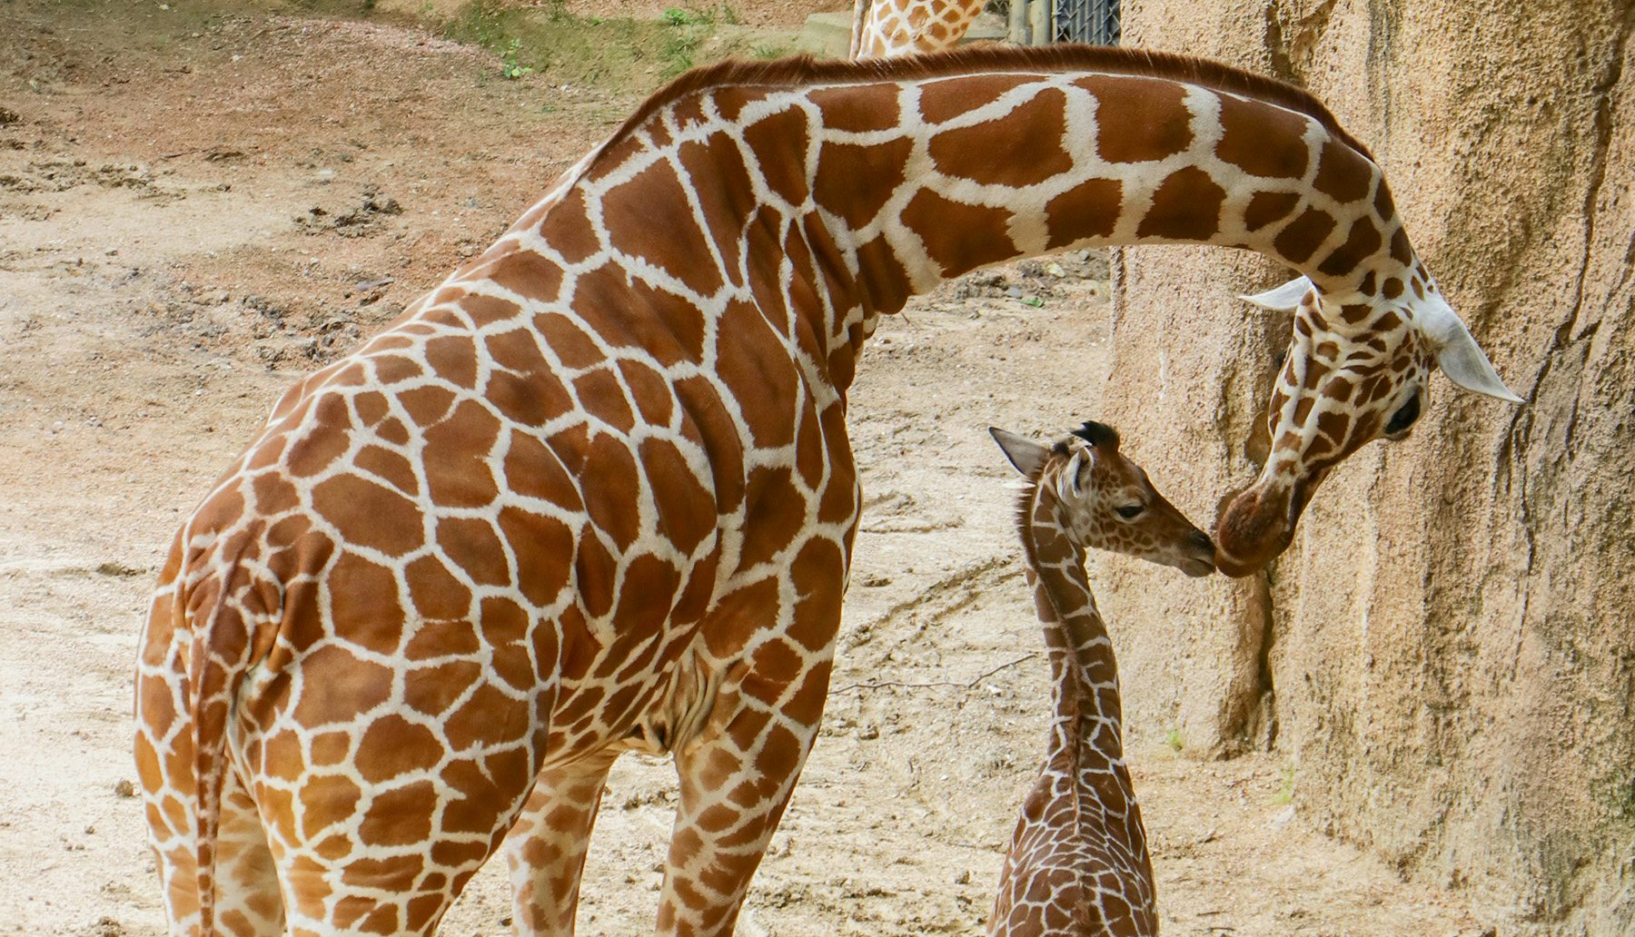
[{"label": "whole large adult giraffe bending its neck down to the calf", "polygon": [[692,72],[284,394],[177,535],[136,693],[173,930],[428,932],[515,824],[517,926],[571,932],[644,747],[680,775],[657,927],[729,932],[822,715],[863,342],[947,276],[1133,242],[1313,283],[1239,571],[1437,360],[1507,392],[1295,88],[1086,47]]}]

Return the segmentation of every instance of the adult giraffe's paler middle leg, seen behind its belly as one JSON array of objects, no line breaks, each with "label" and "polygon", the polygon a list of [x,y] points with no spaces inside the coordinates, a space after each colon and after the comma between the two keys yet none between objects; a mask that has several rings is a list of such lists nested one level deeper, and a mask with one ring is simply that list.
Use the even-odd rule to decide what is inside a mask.
[{"label": "adult giraffe's paler middle leg, seen behind its belly", "polygon": [[549,937],[574,932],[590,829],[616,759],[618,752],[597,752],[540,772],[522,816],[505,836],[513,932]]}]

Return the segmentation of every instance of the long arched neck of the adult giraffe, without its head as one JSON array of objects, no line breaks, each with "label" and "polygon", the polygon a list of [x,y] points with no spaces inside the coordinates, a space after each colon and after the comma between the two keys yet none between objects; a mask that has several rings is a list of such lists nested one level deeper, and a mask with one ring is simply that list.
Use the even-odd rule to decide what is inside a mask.
[{"label": "long arched neck of the adult giraffe, without its head", "polygon": [[1414,265],[1378,167],[1315,98],[1195,59],[983,49],[726,65],[656,95],[597,162],[633,137],[665,146],[713,126],[737,132],[760,201],[819,214],[876,312],[974,267],[1077,245],[1244,247],[1336,296]]}]

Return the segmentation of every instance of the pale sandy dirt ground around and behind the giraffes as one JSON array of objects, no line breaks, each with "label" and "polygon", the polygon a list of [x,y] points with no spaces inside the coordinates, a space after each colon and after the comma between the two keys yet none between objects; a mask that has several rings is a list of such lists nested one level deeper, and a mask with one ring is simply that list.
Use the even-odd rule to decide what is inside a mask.
[{"label": "pale sandy dirt ground around and behind the giraffes", "polygon": [[[129,702],[175,525],[286,384],[486,245],[651,88],[497,70],[301,8],[0,3],[0,932],[162,932]],[[1099,276],[1094,257],[978,273],[867,353],[840,662],[741,934],[981,930],[1048,708],[984,427],[1095,415]],[[1207,517],[1210,492],[1171,494]],[[1306,829],[1275,752],[1200,762],[1166,733],[1130,726],[1166,934],[1489,932],[1462,894]],[[584,934],[651,927],[672,805],[667,765],[615,769]],[[487,868],[443,932],[507,924]]]}]

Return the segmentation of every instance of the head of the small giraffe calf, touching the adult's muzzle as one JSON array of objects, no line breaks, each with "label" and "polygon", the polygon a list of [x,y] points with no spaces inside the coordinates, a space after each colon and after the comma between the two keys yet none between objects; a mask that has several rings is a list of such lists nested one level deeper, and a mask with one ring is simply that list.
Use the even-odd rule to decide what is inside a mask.
[{"label": "head of the small giraffe calf, touching the adult's muzzle", "polygon": [[1187,576],[1215,572],[1215,543],[1118,451],[1112,427],[1086,422],[1051,446],[988,432],[1019,473],[1055,495],[1055,520],[1079,546],[1174,566]]}]

